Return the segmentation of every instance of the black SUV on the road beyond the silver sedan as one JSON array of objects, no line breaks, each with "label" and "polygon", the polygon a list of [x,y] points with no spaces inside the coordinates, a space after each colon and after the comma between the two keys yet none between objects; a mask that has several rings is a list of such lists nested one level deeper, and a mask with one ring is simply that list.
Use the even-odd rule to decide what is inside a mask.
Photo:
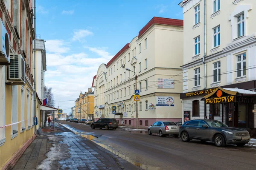
[{"label": "black SUV on the road beyond the silver sedan", "polygon": [[118,127],[118,122],[116,121],[116,119],[112,119],[112,118],[102,118],[99,119],[96,122],[93,122],[91,124],[91,128],[95,129],[95,128],[105,128],[106,130],[108,129],[116,129]]}]

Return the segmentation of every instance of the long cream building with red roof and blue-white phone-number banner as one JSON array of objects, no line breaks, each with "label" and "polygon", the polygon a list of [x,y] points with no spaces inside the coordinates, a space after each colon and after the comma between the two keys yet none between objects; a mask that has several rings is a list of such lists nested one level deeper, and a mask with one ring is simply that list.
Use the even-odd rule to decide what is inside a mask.
[{"label": "long cream building with red roof and blue-white phone-number banner", "polygon": [[[100,65],[92,85],[96,118],[114,117],[119,124],[136,125],[136,73],[139,125],[179,121],[182,86],[174,81],[182,79],[182,56],[183,20],[154,17],[106,65]],[[113,105],[117,106],[115,115]]]}]

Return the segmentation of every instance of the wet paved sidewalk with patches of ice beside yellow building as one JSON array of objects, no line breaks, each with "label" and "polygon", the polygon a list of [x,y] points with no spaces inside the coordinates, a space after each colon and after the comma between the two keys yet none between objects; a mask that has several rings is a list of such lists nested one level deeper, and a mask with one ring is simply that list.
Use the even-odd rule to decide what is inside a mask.
[{"label": "wet paved sidewalk with patches of ice beside yellow building", "polygon": [[58,133],[37,136],[13,170],[139,170],[92,141],[55,124]]}]

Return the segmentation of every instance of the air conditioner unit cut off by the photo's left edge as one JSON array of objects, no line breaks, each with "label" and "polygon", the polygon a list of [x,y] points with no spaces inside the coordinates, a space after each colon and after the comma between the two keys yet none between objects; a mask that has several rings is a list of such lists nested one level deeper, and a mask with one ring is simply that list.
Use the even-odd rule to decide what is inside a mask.
[{"label": "air conditioner unit cut off by the photo's left edge", "polygon": [[[0,19],[1,20],[1,19]],[[0,22],[0,65],[10,65],[10,48],[9,48],[9,34],[3,24]]]}]

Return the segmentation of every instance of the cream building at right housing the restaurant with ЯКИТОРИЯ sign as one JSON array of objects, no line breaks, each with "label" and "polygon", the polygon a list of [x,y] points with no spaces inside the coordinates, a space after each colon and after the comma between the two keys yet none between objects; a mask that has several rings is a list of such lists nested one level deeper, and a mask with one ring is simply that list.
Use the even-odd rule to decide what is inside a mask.
[{"label": "cream building at right housing the restaurant with \u042f\u041a\u0418\u0422\u041e\u0420\u0418\u042f sign", "polygon": [[208,105],[201,100],[218,87],[256,89],[256,1],[183,0],[179,5],[184,15],[183,113],[256,127],[254,101],[240,102],[237,96],[231,104]]}]

